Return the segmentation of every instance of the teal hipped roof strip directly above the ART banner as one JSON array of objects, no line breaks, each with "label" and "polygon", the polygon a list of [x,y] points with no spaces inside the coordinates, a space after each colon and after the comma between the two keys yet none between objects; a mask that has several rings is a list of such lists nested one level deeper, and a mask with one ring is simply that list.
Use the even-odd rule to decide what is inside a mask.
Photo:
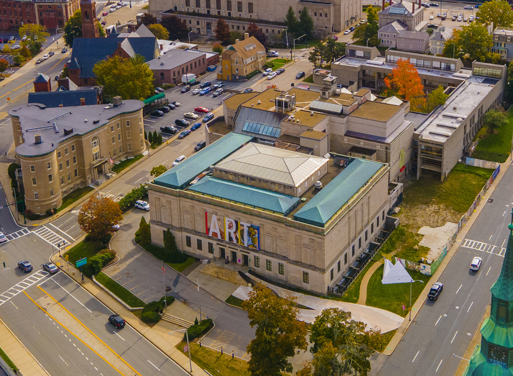
[{"label": "teal hipped roof strip directly above the ART banner", "polygon": [[283,215],[288,215],[301,203],[299,197],[289,196],[283,193],[272,192],[262,188],[251,187],[245,184],[218,179],[213,176],[205,176],[188,190],[220,197],[225,200],[235,201],[244,205],[250,205],[264,210],[271,210]]}]

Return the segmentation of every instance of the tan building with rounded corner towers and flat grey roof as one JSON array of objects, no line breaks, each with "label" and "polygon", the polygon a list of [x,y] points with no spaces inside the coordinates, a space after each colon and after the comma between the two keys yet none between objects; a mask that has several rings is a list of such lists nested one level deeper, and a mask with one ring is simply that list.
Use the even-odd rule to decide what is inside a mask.
[{"label": "tan building with rounded corner towers and flat grey roof", "polygon": [[27,209],[43,214],[60,207],[73,189],[106,180],[113,163],[141,154],[143,105],[114,97],[109,106],[11,108]]}]

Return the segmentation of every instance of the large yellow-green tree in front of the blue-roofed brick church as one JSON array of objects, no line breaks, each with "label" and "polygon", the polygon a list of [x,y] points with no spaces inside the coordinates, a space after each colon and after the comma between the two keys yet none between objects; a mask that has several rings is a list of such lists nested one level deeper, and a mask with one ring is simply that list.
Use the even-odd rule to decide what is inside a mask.
[{"label": "large yellow-green tree in front of the blue-roofed brick church", "polygon": [[[144,62],[144,57],[142,58]],[[129,59],[113,56],[94,65],[98,85],[104,86],[108,97],[145,100],[153,92],[153,72],[141,57]]]}]

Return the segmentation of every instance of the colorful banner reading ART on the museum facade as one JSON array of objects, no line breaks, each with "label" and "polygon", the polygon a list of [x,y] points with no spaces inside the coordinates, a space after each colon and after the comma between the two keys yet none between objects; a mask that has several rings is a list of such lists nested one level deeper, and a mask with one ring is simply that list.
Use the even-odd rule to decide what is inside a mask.
[{"label": "colorful banner reading ART on the museum facade", "polygon": [[211,238],[260,249],[260,226],[205,211],[205,229]]}]

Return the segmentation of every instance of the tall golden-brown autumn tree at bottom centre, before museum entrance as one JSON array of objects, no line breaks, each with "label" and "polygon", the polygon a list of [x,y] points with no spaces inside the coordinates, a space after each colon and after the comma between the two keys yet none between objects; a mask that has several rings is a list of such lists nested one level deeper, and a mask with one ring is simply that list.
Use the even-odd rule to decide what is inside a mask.
[{"label": "tall golden-brown autumn tree at bottom centre, before museum entrance", "polygon": [[255,338],[247,346],[251,374],[280,376],[280,371],[291,372],[287,358],[293,357],[296,349],[307,348],[305,323],[298,321],[299,309],[293,299],[280,298],[259,284],[242,307],[248,312],[249,325],[257,326]]}]

